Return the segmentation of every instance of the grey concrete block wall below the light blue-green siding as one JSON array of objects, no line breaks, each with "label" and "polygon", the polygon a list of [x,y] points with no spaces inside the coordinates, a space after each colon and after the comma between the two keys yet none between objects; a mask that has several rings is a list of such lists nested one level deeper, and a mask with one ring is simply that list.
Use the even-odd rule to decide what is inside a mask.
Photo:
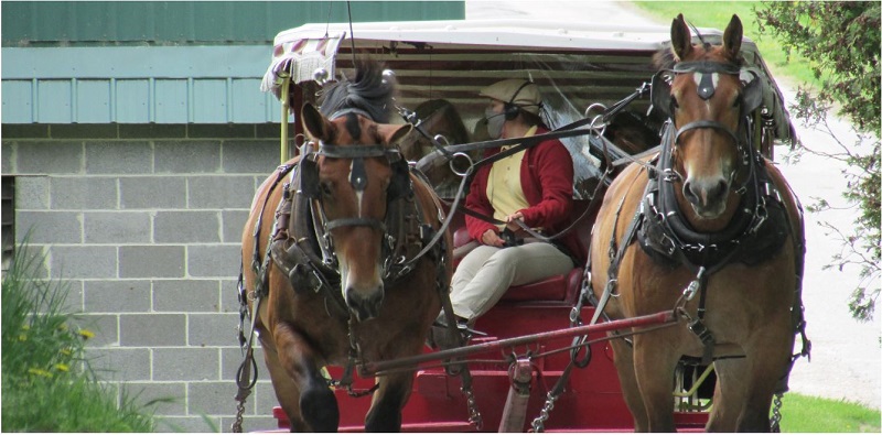
[{"label": "grey concrete block wall below the light blue-green siding", "polygon": [[[154,405],[159,431],[229,431],[235,415],[241,230],[278,165],[276,124],[3,124],[15,240],[96,333],[93,368]],[[247,431],[275,427],[260,381]],[[206,420],[211,423],[206,423]]]}]

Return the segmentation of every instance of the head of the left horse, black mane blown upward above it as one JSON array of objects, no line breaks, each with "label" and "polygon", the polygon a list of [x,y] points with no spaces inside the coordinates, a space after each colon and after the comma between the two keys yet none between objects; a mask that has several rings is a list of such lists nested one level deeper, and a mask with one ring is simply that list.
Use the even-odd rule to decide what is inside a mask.
[{"label": "head of the left horse, black mane blown upward above it", "polygon": [[320,145],[313,178],[302,188],[321,207],[343,298],[356,319],[367,320],[379,314],[384,298],[387,205],[408,176],[396,144],[411,127],[377,123],[361,110],[337,113],[327,118],[310,104],[303,107],[304,129]]}]

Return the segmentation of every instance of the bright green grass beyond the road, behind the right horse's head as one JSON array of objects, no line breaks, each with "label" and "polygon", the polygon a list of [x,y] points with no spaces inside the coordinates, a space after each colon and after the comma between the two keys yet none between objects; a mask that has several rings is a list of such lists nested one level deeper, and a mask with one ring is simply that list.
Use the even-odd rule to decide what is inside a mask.
[{"label": "bright green grass beyond the road, behind the right horse's head", "polygon": [[771,35],[760,33],[759,21],[754,8],[762,3],[753,1],[634,1],[642,11],[649,17],[669,23],[678,13],[682,13],[687,22],[697,28],[713,28],[724,30],[729,20],[735,13],[744,25],[744,36],[756,44],[772,74],[776,78],[786,78],[797,84],[808,84],[815,88],[820,86],[809,69],[809,63],[797,53],[792,53],[789,58],[783,46]]}]

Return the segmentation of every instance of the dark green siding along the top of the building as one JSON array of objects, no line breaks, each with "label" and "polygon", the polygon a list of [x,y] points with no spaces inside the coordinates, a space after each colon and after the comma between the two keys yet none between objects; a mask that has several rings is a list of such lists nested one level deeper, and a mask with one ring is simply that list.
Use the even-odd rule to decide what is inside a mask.
[{"label": "dark green siding along the top of the building", "polygon": [[[464,1],[351,6],[354,22],[465,18]],[[348,20],[344,1],[4,1],[0,8],[3,46],[254,44],[304,23]]]}]

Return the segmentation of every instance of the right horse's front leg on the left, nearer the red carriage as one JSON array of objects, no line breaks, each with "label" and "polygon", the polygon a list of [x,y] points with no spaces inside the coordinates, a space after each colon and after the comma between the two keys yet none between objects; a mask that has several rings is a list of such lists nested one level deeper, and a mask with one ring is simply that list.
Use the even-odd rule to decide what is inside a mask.
[{"label": "right horse's front leg on the left, nearer the red carriage", "polygon": [[663,335],[634,336],[634,372],[646,406],[649,432],[675,432],[674,369],[680,355]]}]

